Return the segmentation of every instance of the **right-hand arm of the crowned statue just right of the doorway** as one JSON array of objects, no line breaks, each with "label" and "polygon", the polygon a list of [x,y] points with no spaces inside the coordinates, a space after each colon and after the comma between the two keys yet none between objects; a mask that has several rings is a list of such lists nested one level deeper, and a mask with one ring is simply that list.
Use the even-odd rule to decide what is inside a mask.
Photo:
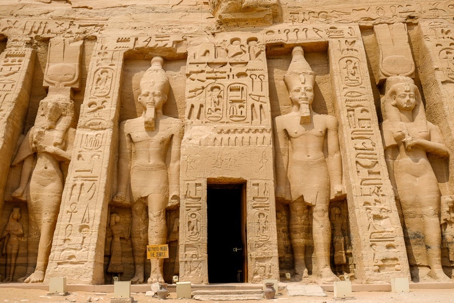
[{"label": "right-hand arm of the crowned statue just right of the doorway", "polygon": [[334,196],[343,193],[342,186],[342,157],[341,148],[339,147],[339,135],[337,120],[334,117],[329,117],[326,141],[327,141],[327,164],[329,168],[330,182],[334,188]]}]

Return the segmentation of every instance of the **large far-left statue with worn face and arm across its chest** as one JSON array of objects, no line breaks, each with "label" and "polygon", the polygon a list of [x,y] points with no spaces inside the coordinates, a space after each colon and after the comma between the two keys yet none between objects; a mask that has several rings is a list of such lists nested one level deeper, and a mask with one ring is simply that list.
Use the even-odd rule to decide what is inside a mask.
[{"label": "large far-left statue with worn face and arm across its chest", "polygon": [[[28,258],[25,282],[42,282],[50,254],[53,232],[60,210],[64,176],[61,162],[71,158],[71,140],[68,137],[70,122],[74,114],[72,100],[64,93],[52,92],[41,100],[35,125],[25,135],[13,165],[23,163],[19,187],[12,196],[27,200],[29,226],[37,226],[40,237],[36,268],[34,260]],[[36,160],[36,165],[33,166]],[[30,184],[27,198],[26,187]],[[36,247],[29,236],[28,247]],[[36,248],[34,248],[36,249]]]}]

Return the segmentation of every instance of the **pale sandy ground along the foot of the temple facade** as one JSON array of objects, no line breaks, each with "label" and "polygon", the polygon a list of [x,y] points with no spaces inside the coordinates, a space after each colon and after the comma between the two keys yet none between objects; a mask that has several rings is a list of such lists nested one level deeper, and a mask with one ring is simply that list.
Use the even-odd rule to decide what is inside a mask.
[{"label": "pale sandy ground along the foot of the temple facade", "polygon": [[[328,296],[325,297],[308,297],[308,296],[282,296],[279,295],[271,300],[260,300],[266,302],[282,302],[282,303],[334,303],[334,302],[399,302],[399,303],[454,303],[454,289],[417,289],[411,290],[410,293],[391,293],[389,291],[370,291],[370,292],[353,292],[353,297],[349,298],[333,298],[332,292],[326,292]],[[2,288],[0,289],[0,303],[19,303],[19,302],[99,302],[109,303],[113,293],[104,292],[84,292],[74,291],[70,292],[67,296],[47,295],[46,290],[40,289],[17,289],[17,288]],[[169,299],[163,301],[156,297],[147,297],[145,293],[133,293],[134,302],[167,302],[167,303],[196,303],[202,302],[194,299],[177,299],[176,293],[171,293]],[[219,301],[211,301],[219,302]],[[232,303],[257,303],[258,300],[237,300],[237,301],[221,301]],[[220,302],[219,302],[220,303]]]}]

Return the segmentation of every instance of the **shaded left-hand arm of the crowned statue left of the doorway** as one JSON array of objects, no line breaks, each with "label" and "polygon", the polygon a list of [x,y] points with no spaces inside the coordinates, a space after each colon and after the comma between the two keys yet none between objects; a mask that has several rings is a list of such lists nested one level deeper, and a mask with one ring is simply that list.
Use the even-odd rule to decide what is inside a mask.
[{"label": "shaded left-hand arm of the crowned statue left of the doorway", "polygon": [[119,130],[119,155],[118,155],[118,175],[117,175],[117,194],[113,201],[122,203],[126,199],[126,189],[129,181],[129,161],[131,150],[131,139],[125,132],[125,122],[120,124]]}]

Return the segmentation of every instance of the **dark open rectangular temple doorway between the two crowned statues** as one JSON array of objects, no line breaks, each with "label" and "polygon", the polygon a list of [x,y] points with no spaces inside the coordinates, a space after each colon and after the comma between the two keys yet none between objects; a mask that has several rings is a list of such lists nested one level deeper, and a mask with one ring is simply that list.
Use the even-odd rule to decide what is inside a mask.
[{"label": "dark open rectangular temple doorway between the two crowned statues", "polygon": [[246,184],[207,184],[209,283],[247,282]]}]

